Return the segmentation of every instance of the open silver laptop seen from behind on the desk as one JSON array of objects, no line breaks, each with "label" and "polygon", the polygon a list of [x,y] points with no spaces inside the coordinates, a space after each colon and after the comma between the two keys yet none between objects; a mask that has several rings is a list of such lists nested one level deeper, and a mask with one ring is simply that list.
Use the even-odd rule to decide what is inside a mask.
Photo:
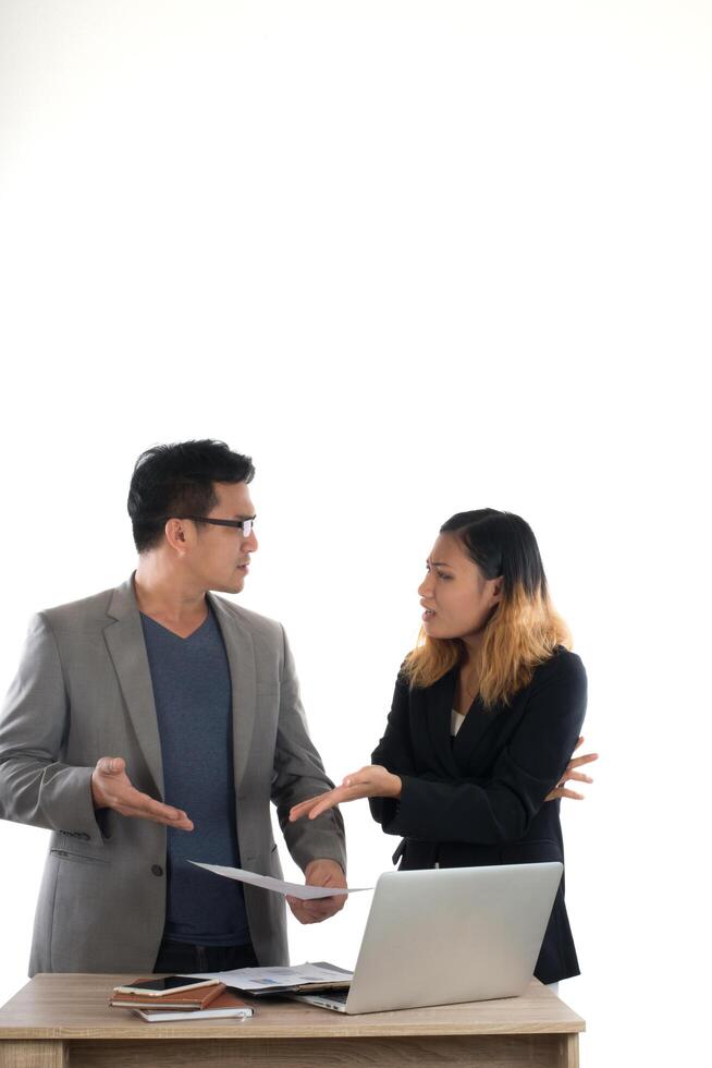
[{"label": "open silver laptop seen from behind on the desk", "polygon": [[349,1014],[516,997],[562,872],[545,863],[381,875],[349,988],[289,996]]}]

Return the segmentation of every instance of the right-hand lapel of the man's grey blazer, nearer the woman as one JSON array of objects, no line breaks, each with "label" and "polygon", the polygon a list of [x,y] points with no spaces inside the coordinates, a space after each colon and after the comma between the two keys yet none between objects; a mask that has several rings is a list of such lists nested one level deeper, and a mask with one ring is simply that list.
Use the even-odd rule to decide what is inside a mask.
[{"label": "right-hand lapel of the man's grey blazer, nearer the woman", "polygon": [[208,594],[225,643],[232,680],[232,737],[235,792],[240,789],[255,729],[257,709],[257,670],[253,635],[219,597]]}]

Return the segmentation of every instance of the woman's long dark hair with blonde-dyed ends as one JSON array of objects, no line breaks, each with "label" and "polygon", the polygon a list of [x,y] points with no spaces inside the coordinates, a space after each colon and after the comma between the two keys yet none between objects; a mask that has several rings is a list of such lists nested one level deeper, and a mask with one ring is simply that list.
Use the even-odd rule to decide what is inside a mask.
[{"label": "woman's long dark hair with blonde-dyed ends", "polygon": [[[507,705],[556,646],[572,647],[570,632],[549,597],[533,532],[512,512],[482,508],[458,512],[440,533],[457,535],[486,579],[503,577],[502,599],[482,636],[479,695],[487,709]],[[421,628],[402,670],[410,687],[430,687],[461,663],[464,652],[459,639],[429,638]]]}]

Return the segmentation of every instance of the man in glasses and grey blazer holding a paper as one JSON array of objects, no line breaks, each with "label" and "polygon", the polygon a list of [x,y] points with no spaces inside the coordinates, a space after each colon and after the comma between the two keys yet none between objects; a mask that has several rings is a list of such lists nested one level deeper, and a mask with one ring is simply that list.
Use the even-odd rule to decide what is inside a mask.
[{"label": "man in glasses and grey blazer holding a paper", "polygon": [[135,573],[30,623],[0,721],[0,816],[52,832],[30,975],[286,963],[282,898],[189,863],[281,876],[270,800],[306,882],[346,885],[341,815],[289,822],[333,784],[284,630],[210,592],[245,584],[254,473],[220,441],[144,452]]}]

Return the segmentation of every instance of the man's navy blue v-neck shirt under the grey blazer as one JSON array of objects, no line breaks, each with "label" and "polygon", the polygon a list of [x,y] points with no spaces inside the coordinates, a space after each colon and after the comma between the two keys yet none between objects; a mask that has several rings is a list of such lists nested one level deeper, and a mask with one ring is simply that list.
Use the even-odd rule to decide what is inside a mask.
[{"label": "man's navy blue v-neck shirt under the grey blazer", "polygon": [[232,681],[212,610],[188,638],[142,612],[163,760],[165,803],[193,830],[168,827],[163,937],[201,946],[249,942],[240,883],[188,861],[240,867],[233,772]]}]

